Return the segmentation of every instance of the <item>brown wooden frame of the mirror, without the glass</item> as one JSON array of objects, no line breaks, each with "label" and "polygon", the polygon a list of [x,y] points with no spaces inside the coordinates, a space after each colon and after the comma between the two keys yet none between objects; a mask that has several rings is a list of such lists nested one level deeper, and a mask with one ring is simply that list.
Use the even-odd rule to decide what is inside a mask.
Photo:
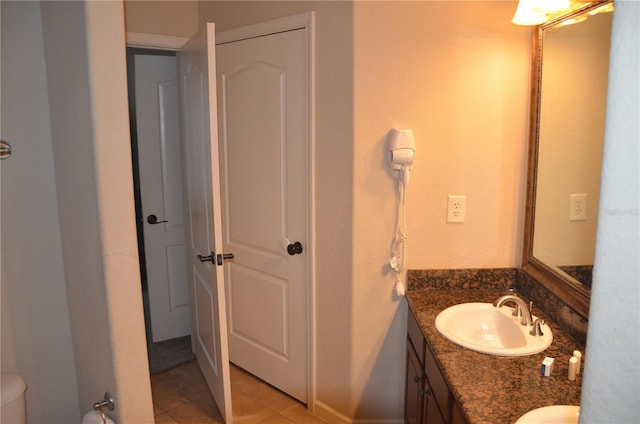
[{"label": "brown wooden frame of the mirror, without the glass", "polygon": [[550,22],[536,26],[533,30],[531,60],[531,120],[529,123],[529,151],[527,190],[522,246],[522,270],[542,284],[551,293],[566,303],[583,318],[589,317],[591,294],[578,281],[559,272],[533,256],[533,230],[535,224],[536,186],[538,169],[538,144],[540,135],[540,95],[542,91],[542,58],[544,30],[565,19],[586,13],[612,0],[596,1]]}]

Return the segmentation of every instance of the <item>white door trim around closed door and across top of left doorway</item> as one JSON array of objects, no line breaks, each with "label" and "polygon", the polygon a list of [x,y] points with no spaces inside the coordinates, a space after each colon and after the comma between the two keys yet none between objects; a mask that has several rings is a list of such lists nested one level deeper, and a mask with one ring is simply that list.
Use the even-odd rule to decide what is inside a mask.
[{"label": "white door trim around closed door and across top of left doorway", "polygon": [[[309,149],[308,149],[308,198],[307,210],[309,211],[309,238],[307,242],[307,251],[309,254],[308,264],[308,282],[307,290],[307,314],[308,314],[308,337],[307,337],[307,355],[308,355],[308,400],[307,408],[313,411],[316,403],[316,310],[315,310],[315,292],[316,292],[316,263],[315,263],[315,30],[314,30],[315,14],[314,12],[301,13],[298,15],[288,16],[280,19],[274,19],[263,23],[243,26],[224,32],[224,37],[216,40],[217,44],[238,41],[247,37],[257,37],[267,35],[274,32],[290,31],[294,29],[304,29],[307,33],[308,55],[307,62],[309,64]],[[127,46],[140,47],[148,49],[162,50],[178,50],[188,40],[182,37],[171,37],[160,34],[143,34],[131,33],[126,34]]]}]

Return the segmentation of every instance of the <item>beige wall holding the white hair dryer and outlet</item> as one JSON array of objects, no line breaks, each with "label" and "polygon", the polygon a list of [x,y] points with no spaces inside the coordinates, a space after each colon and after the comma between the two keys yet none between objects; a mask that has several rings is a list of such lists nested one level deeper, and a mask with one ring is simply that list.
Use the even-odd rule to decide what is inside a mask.
[{"label": "beige wall holding the white hair dryer and outlet", "polygon": [[[515,3],[500,1],[355,3],[351,355],[358,417],[403,412],[405,305],[393,294],[387,265],[397,208],[384,154],[390,128],[412,128],[416,142],[407,268],[519,263],[530,30],[510,23],[514,10]],[[464,224],[446,223],[448,194],[466,195]]]}]

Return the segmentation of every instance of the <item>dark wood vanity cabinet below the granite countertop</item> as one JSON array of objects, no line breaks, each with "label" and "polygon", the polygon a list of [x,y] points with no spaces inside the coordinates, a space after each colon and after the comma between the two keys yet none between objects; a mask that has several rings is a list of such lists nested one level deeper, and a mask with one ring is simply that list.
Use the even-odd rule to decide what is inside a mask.
[{"label": "dark wood vanity cabinet below the granite countertop", "polygon": [[407,319],[405,423],[466,424],[411,311]]}]

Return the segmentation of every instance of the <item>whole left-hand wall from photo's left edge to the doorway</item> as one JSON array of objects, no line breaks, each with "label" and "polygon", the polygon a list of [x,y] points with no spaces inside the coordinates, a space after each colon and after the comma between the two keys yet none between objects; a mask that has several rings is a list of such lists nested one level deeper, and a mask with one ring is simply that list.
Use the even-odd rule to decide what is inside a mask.
[{"label": "whole left-hand wall from photo's left edge to the doorway", "polygon": [[116,421],[153,422],[122,5],[1,7],[2,371],[30,423],[80,422],[105,391]]}]

